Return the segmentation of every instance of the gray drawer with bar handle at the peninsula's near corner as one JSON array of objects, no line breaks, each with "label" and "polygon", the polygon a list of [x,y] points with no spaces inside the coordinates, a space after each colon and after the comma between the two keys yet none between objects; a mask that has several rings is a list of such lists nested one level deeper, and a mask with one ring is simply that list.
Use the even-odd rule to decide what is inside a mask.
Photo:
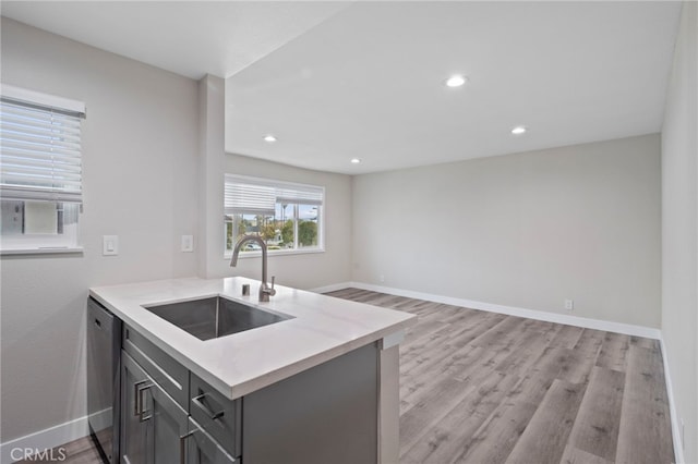
[{"label": "gray drawer with bar handle at the peninsula's near corner", "polygon": [[191,374],[189,414],[233,457],[240,455],[242,402],[228,400]]}]

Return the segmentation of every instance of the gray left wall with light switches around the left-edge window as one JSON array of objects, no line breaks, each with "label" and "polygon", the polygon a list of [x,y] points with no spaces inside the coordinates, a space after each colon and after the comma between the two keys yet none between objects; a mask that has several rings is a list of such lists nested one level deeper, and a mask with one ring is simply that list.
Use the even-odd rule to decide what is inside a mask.
[{"label": "gray left wall with light switches around the left-edge window", "polygon": [[[196,82],[2,19],[2,82],[82,100],[82,254],[3,256],[1,437],[86,415],[85,304],[93,285],[196,273]],[[101,237],[119,255],[101,256]],[[58,444],[58,443],[57,443]]]}]

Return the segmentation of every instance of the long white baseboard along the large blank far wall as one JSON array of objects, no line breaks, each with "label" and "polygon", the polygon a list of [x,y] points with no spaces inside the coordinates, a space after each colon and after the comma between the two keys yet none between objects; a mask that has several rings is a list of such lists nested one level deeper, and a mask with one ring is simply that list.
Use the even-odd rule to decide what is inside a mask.
[{"label": "long white baseboard along the large blank far wall", "polygon": [[447,305],[462,306],[472,309],[481,309],[490,313],[506,314],[507,316],[526,317],[529,319],[544,320],[546,322],[565,323],[567,326],[583,327],[585,329],[603,330],[607,332],[623,333],[626,335],[645,337],[648,339],[660,340],[661,331],[651,327],[634,326],[630,323],[612,322],[607,320],[589,319],[586,317],[569,316],[566,314],[549,313],[543,310],[526,309],[516,306],[504,306],[493,303],[476,302],[472,300],[455,298],[452,296],[435,295],[432,293],[414,292],[411,290],[394,289],[389,286],[374,285],[363,282],[345,282],[334,288],[352,286],[354,289],[372,290],[374,292],[388,293],[390,295],[407,296],[410,298],[426,300],[435,303],[444,303]]}]

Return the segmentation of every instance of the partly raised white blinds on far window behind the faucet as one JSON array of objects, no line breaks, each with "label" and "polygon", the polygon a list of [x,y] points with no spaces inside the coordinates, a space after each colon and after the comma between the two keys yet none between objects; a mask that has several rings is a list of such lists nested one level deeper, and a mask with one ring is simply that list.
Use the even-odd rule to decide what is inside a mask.
[{"label": "partly raised white blinds on far window behind the faucet", "polygon": [[268,179],[226,174],[226,215],[273,216],[276,204],[322,205],[325,188]]}]

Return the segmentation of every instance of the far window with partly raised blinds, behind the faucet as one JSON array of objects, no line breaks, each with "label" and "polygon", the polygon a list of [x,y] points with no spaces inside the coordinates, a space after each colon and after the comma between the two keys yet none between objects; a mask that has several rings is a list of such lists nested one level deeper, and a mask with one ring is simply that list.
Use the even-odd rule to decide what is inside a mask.
[{"label": "far window with partly raised blinds, behind the faucet", "polygon": [[[226,174],[227,254],[245,235],[258,235],[269,253],[323,251],[325,188],[269,179]],[[258,252],[248,243],[242,252]]]}]

